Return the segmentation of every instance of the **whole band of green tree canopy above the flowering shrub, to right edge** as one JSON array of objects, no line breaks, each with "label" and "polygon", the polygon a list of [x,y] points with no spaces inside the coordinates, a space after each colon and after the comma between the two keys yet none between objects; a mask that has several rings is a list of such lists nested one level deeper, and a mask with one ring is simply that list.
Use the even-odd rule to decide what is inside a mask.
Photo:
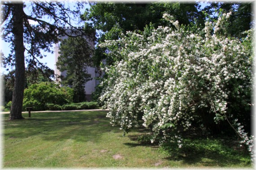
[{"label": "whole band of green tree canopy above the flowering shrub, to right edge", "polygon": [[[91,3],[90,9],[86,9],[82,18],[90,21],[90,24],[99,31],[97,42],[120,38],[127,31],[142,31],[146,25],[154,28],[167,26],[168,22],[163,19],[163,13],[168,13],[179,21],[180,25],[188,25],[191,22],[198,26],[204,26],[203,20],[208,16],[216,19],[217,11],[232,11],[230,27],[226,34],[238,38],[243,37],[243,31],[252,27],[252,4],[251,3],[223,3],[210,2],[204,8],[199,3]],[[94,64],[99,65],[105,58],[106,48],[96,47]],[[109,61],[112,62],[111,59]]]}]

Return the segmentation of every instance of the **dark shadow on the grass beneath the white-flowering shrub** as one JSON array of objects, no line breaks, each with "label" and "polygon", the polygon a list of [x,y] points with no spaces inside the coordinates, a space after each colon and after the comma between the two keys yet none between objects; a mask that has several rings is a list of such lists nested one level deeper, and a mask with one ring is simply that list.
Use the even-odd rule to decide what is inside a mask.
[{"label": "dark shadow on the grass beneath the white-flowering shrub", "polygon": [[[146,146],[159,148],[166,154],[164,159],[169,161],[182,161],[188,166],[251,166],[251,158],[246,149],[236,147],[237,139],[222,136],[207,138],[206,136],[190,136],[184,139],[181,149],[177,144],[158,144],[150,143],[150,133],[140,131],[138,135],[128,135],[130,140],[136,143],[124,143],[129,147]],[[141,141],[141,142],[140,142]]]}]

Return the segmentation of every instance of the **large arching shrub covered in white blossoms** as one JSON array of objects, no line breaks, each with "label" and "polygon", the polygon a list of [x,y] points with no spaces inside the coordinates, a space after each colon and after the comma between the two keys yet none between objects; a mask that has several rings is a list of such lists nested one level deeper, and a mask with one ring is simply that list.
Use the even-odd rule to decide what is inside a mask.
[{"label": "large arching shrub covered in white blossoms", "polygon": [[229,16],[206,21],[202,29],[179,26],[164,14],[169,26],[147,26],[102,43],[114,60],[104,68],[108,78],[100,97],[111,123],[126,133],[142,116],[143,125],[154,132],[152,143],[157,139],[181,147],[180,133],[195,119],[213,115],[218,124],[249,117],[252,31],[244,40],[227,37]]}]

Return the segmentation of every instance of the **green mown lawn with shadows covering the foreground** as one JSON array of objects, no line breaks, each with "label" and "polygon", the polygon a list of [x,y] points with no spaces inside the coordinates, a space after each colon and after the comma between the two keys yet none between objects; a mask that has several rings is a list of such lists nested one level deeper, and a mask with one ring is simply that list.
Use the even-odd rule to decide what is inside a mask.
[{"label": "green mown lawn with shadows covering the foreground", "polygon": [[4,168],[252,167],[246,152],[221,139],[185,139],[182,149],[164,150],[138,142],[145,129],[123,137],[105,111],[31,113],[14,121],[8,116],[2,115]]}]

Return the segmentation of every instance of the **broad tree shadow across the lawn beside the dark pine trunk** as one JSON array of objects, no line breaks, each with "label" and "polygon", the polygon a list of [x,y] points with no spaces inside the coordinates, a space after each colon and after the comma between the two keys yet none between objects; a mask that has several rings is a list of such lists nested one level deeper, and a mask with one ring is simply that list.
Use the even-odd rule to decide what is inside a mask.
[{"label": "broad tree shadow across the lawn beside the dark pine trunk", "polygon": [[28,119],[4,121],[4,135],[7,137],[23,139],[39,136],[47,141],[72,139],[97,142],[103,133],[117,128],[110,125],[105,111],[34,113]]}]

